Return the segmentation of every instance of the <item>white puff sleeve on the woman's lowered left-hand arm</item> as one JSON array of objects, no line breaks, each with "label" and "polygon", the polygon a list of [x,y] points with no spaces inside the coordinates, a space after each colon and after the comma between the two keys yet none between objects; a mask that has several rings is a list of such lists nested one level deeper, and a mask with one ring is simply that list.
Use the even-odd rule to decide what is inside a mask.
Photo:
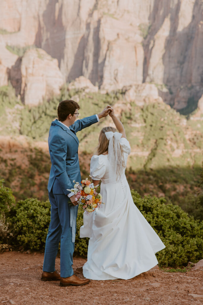
[{"label": "white puff sleeve on the woman's lowered left-hand arm", "polygon": [[106,165],[100,156],[92,156],[90,161],[90,175],[93,180],[100,180],[106,172]]}]

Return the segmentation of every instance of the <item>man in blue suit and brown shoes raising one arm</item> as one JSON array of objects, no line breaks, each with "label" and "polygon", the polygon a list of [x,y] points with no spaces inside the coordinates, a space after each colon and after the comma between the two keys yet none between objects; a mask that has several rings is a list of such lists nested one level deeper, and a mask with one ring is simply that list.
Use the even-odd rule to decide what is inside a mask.
[{"label": "man in blue suit and brown shoes raising one arm", "polygon": [[[112,110],[107,106],[98,115],[76,120],[80,109],[77,102],[61,101],[58,105],[58,120],[51,123],[48,144],[51,171],[48,182],[51,203],[51,222],[47,234],[44,265],[41,280],[60,280],[60,286],[85,285],[89,279],[80,279],[73,274],[73,251],[75,246],[78,203],[76,195],[67,189],[73,188],[73,180],[81,181],[78,160],[79,140],[76,132],[106,117]],[[72,205],[69,203],[72,202]],[[55,271],[55,259],[61,240],[61,275]]]}]

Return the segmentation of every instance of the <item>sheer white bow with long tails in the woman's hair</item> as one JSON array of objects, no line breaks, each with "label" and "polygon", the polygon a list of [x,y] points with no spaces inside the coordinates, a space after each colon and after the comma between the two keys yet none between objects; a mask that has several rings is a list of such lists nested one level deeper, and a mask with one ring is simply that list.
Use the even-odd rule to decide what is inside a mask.
[{"label": "sheer white bow with long tails in the woman's hair", "polygon": [[108,159],[110,163],[109,168],[109,182],[115,183],[122,174],[122,154],[119,140],[122,134],[119,132],[107,131],[105,132],[109,140]]}]

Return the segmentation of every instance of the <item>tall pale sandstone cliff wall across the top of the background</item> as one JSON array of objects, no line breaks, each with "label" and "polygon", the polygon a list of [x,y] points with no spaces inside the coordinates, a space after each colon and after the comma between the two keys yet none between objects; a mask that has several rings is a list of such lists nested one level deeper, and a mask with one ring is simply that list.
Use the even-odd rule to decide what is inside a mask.
[{"label": "tall pale sandstone cliff wall across the top of the background", "polygon": [[108,91],[152,82],[176,109],[203,93],[200,0],[2,0],[0,10],[0,47],[44,49],[66,81],[83,75]]}]

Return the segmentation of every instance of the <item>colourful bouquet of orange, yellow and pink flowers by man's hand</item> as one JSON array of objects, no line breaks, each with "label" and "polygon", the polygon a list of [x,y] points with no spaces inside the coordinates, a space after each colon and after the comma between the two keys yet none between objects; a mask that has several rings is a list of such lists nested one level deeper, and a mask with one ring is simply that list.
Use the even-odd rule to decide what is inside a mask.
[{"label": "colourful bouquet of orange, yellow and pink flowers by man's hand", "polygon": [[82,185],[79,182],[75,182],[75,180],[73,182],[75,183],[74,188],[67,190],[76,195],[79,204],[82,205],[82,209],[86,213],[93,212],[96,208],[100,209],[102,207],[102,196],[96,192],[98,185],[94,186],[88,178],[81,181]]}]

